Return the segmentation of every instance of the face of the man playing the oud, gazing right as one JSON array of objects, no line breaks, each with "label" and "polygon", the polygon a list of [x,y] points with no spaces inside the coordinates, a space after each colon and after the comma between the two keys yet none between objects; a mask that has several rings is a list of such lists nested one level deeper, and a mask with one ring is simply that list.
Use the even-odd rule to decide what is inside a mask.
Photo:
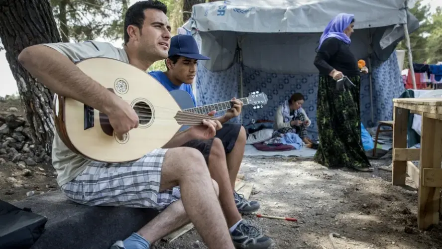
[{"label": "face of the man playing the oud, gazing right", "polygon": [[134,39],[140,59],[158,61],[167,58],[170,45],[170,25],[159,9],[144,10],[144,23]]}]

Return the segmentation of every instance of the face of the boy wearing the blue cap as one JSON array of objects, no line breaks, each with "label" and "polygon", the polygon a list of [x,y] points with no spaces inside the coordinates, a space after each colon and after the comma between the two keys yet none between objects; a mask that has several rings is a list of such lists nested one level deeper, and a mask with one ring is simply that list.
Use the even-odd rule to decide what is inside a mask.
[{"label": "face of the boy wearing the blue cap", "polygon": [[192,84],[197,74],[197,60],[181,56],[177,63],[170,61],[169,71],[174,78],[185,84]]}]

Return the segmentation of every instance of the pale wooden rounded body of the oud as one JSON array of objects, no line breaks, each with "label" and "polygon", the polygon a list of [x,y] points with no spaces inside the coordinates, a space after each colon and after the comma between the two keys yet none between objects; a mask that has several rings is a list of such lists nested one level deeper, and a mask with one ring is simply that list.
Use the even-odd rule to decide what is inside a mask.
[{"label": "pale wooden rounded body of the oud", "polygon": [[181,124],[174,119],[181,111],[180,107],[146,72],[109,58],[86,59],[76,65],[132,108],[137,103],[150,106],[151,119],[144,124],[140,118],[138,128],[130,130],[121,141],[115,136],[107,117],[100,115],[98,110],[86,106],[93,114],[88,116],[93,120],[90,127],[92,122],[86,124],[88,111],[83,103],[56,95],[53,110],[57,132],[73,152],[96,161],[133,161],[166,144],[180,129]]}]

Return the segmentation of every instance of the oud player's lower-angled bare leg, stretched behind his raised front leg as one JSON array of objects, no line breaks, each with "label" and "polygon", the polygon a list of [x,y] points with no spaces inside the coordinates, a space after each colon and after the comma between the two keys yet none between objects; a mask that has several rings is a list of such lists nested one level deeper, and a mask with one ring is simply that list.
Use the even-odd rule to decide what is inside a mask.
[{"label": "oud player's lower-angled bare leg, stretched behind his raised front leg", "polygon": [[[220,193],[218,184],[212,180],[215,192]],[[157,215],[153,220],[142,227],[137,233],[151,244],[161,240],[177,229],[190,223],[186,210],[184,210],[183,201],[178,200],[170,204],[166,209]]]}]

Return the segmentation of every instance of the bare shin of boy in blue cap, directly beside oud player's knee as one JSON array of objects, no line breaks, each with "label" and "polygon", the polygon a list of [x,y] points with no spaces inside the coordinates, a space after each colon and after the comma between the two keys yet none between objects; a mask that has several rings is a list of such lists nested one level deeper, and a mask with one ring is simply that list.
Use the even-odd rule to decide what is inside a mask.
[{"label": "bare shin of boy in blue cap, directly beside oud player's knee", "polygon": [[235,200],[232,198],[233,189],[227,171],[224,146],[219,138],[215,138],[212,142],[208,164],[210,175],[220,188],[221,208],[230,228],[241,220],[241,215],[236,208]]}]

